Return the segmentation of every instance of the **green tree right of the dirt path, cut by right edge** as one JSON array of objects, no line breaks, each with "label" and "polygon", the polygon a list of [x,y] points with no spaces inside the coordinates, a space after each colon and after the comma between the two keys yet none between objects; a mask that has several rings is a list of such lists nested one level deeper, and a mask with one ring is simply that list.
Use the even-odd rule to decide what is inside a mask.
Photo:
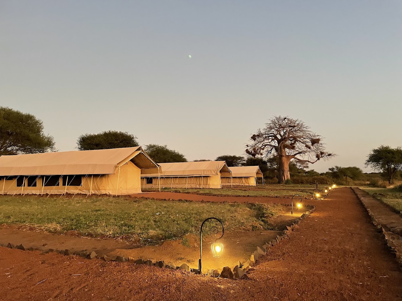
[{"label": "green tree right of the dirt path, cut by right edge", "polygon": [[382,171],[388,178],[388,183],[393,184],[396,173],[402,170],[402,148],[391,148],[388,145],[373,148],[367,155],[365,166]]}]

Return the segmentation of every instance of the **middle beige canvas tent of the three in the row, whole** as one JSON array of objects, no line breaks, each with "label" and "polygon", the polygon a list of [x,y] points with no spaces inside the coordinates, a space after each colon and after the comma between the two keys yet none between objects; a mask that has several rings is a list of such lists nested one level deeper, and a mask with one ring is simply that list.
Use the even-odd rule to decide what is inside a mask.
[{"label": "middle beige canvas tent of the three in the row, whole", "polygon": [[159,163],[162,172],[143,173],[144,188],[222,188],[221,177],[231,173],[225,161]]}]

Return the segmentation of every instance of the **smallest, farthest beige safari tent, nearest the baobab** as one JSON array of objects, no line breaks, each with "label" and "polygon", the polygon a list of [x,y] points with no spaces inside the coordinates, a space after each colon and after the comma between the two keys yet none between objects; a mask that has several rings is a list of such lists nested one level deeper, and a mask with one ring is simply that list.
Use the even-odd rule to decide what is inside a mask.
[{"label": "smallest, farthest beige safari tent, nearest the baobab", "polygon": [[232,177],[222,178],[222,186],[256,186],[258,178],[264,183],[263,173],[258,166],[236,166],[229,169]]}]

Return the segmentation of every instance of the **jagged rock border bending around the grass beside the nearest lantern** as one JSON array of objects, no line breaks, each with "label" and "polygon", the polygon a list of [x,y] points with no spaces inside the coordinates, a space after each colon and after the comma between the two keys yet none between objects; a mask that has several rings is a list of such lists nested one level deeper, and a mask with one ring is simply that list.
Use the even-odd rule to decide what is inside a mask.
[{"label": "jagged rock border bending around the grass beside the nearest lantern", "polygon": [[[290,206],[289,204],[282,204],[285,206]],[[239,261],[239,264],[236,265],[233,269],[231,269],[229,266],[224,266],[224,268],[222,269],[222,272],[219,273],[219,270],[208,270],[206,275],[209,275],[211,277],[220,277],[220,278],[228,278],[228,279],[240,279],[242,278],[245,273],[256,264],[256,262],[258,260],[260,260],[260,258],[264,255],[266,255],[269,250],[271,250],[271,248],[273,246],[275,246],[276,244],[279,244],[279,242],[281,242],[281,240],[287,238],[289,236],[289,234],[298,227],[298,225],[300,224],[300,222],[302,220],[304,220],[307,216],[309,216],[310,214],[312,214],[314,212],[314,210],[316,209],[315,206],[310,206],[310,205],[306,205],[306,207],[310,207],[310,210],[307,212],[304,212],[304,214],[302,214],[299,218],[296,219],[295,223],[292,223],[291,226],[286,226],[286,230],[282,231],[281,235],[277,235],[276,239],[272,239],[269,242],[266,242],[263,246],[259,247],[257,246],[256,250],[254,251],[253,254],[251,254],[250,259],[247,260],[246,262],[242,263]],[[23,251],[41,251],[41,254],[47,254],[47,253],[51,253],[51,252],[56,252],[62,255],[75,255],[75,256],[81,256],[83,258],[86,259],[94,259],[94,258],[98,258],[98,259],[103,259],[107,262],[109,261],[117,261],[117,262],[130,262],[132,264],[146,264],[146,265],[150,265],[150,266],[156,266],[159,268],[170,268],[173,270],[185,270],[187,272],[191,272],[191,273],[195,273],[195,274],[199,274],[199,270],[195,269],[195,268],[191,268],[189,267],[188,264],[183,263],[180,266],[176,266],[174,264],[172,264],[171,262],[166,263],[163,260],[160,261],[155,261],[155,260],[143,260],[142,258],[139,259],[135,259],[133,257],[124,257],[124,256],[117,256],[115,259],[108,257],[106,255],[102,255],[102,256],[98,256],[96,254],[96,252],[91,251],[75,251],[75,252],[70,252],[70,250],[65,249],[65,250],[54,250],[54,249],[46,249],[43,250],[41,248],[25,248],[22,244],[15,246],[14,244],[11,244],[10,242],[7,245],[4,244],[0,244],[0,246],[3,247],[7,247],[7,248],[11,248],[11,249],[18,249],[18,250],[23,250]]]}]

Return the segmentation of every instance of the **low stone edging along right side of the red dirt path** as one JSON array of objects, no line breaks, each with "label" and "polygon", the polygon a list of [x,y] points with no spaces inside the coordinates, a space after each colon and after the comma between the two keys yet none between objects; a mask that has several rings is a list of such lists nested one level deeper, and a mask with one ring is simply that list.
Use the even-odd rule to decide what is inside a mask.
[{"label": "low stone edging along right side of the red dirt path", "polygon": [[[398,246],[396,246],[396,244],[394,243],[394,240],[401,240],[402,237],[396,233],[386,231],[386,229],[384,229],[384,227],[375,218],[374,214],[371,212],[370,208],[367,206],[367,204],[365,203],[363,198],[360,197],[360,195],[357,191],[357,188],[355,188],[355,187],[350,187],[350,188],[352,189],[353,193],[355,193],[357,199],[359,199],[359,201],[363,204],[363,207],[366,209],[367,213],[370,216],[371,223],[377,228],[377,230],[379,230],[379,232],[381,232],[381,237],[384,238],[385,244],[388,247],[388,250],[390,250],[390,252],[395,256],[396,261],[398,262],[399,266],[402,268],[402,250],[400,250],[400,248],[398,248]],[[374,199],[374,200],[379,202],[376,199]]]}]

